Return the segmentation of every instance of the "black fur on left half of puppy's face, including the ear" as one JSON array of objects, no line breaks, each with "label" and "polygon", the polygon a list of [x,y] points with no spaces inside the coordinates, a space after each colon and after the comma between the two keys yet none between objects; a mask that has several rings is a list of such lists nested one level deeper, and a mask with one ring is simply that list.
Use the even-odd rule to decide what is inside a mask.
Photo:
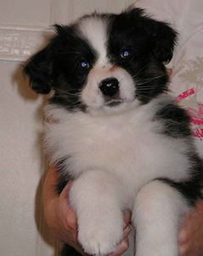
[{"label": "black fur on left half of puppy's face, including the ear", "polygon": [[[77,31],[76,26],[55,25],[57,35],[45,49],[33,55],[26,63],[24,73],[29,76],[31,88],[46,94],[54,89],[50,103],[69,110],[85,109],[80,92],[97,54]],[[82,67],[87,61],[89,67]]]}]

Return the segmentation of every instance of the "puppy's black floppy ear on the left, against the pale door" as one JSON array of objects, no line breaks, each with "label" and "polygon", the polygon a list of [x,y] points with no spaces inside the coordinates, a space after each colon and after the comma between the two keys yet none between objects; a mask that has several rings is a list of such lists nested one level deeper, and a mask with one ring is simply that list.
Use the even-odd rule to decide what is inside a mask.
[{"label": "puppy's black floppy ear on the left, against the pale door", "polygon": [[47,94],[53,87],[53,61],[49,46],[33,55],[25,64],[23,72],[29,77],[31,89],[37,93]]}]

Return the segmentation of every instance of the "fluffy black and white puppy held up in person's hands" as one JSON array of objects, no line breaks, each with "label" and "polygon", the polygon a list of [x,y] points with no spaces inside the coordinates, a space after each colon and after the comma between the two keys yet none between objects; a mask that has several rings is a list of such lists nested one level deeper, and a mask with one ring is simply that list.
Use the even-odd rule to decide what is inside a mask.
[{"label": "fluffy black and white puppy held up in person's hands", "polygon": [[37,93],[54,90],[46,144],[59,191],[73,179],[78,240],[86,253],[113,252],[130,208],[136,256],[178,256],[178,225],[200,197],[202,164],[188,115],[166,94],[176,32],[142,9],[55,27],[25,74]]}]

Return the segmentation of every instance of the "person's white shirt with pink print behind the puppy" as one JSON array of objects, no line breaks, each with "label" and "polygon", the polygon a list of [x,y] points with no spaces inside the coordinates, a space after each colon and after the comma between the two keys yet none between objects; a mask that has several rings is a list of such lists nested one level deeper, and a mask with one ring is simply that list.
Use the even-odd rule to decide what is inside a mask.
[{"label": "person's white shirt with pink print behind the puppy", "polygon": [[170,90],[191,117],[193,135],[203,157],[203,1],[137,0],[156,20],[171,24],[178,33],[172,61]]}]

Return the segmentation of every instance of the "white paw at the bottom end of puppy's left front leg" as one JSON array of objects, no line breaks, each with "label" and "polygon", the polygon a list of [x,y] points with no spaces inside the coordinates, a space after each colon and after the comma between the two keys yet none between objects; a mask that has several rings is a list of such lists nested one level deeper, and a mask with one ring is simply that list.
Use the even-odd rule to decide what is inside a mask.
[{"label": "white paw at the bottom end of puppy's left front leg", "polygon": [[116,245],[122,239],[122,218],[119,222],[102,220],[79,225],[78,240],[85,253],[107,255],[116,250]]}]

